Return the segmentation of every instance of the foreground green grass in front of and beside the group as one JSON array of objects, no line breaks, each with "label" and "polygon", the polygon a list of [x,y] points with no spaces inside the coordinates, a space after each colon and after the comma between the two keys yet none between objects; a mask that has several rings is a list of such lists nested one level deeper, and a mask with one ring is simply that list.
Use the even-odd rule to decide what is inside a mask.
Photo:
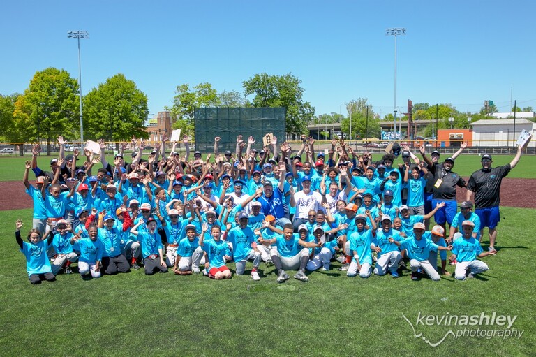
[{"label": "foreground green grass in front of and beside the group", "polygon": [[[533,272],[534,210],[502,208],[496,256],[482,277],[412,282],[403,277],[348,278],[313,272],[307,283],[276,284],[274,268],[260,282],[234,276],[216,282],[143,270],[89,282],[77,274],[31,286],[13,231],[31,210],[0,212],[3,356],[530,356],[536,351]],[[230,265],[234,268],[234,265]],[[246,272],[251,269],[248,263]],[[450,266],[449,271],[454,268]],[[521,338],[447,336],[438,347],[416,338],[420,314],[517,316]],[[477,326],[470,328],[476,328]],[[486,328],[484,326],[484,328]],[[491,329],[498,326],[488,327]],[[448,326],[416,326],[431,342]]]}]

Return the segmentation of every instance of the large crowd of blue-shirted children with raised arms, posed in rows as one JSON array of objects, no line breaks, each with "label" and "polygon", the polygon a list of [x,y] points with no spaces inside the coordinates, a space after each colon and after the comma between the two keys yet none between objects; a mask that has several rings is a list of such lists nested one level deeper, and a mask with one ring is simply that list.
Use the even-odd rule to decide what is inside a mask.
[{"label": "large crowd of blue-shirted children with raised arms, posed in rows", "polygon": [[[215,148],[218,142],[215,138]],[[64,145],[63,138],[59,143]],[[368,152],[358,156],[343,140],[315,155],[314,140],[304,138],[291,156],[290,145],[278,148],[276,140],[273,150],[257,152],[252,137],[243,153],[246,143],[239,136],[234,156],[215,151],[211,163],[211,154],[202,159],[200,152],[189,161],[189,152],[174,151],[175,143],[166,157],[164,143],[165,138],[145,161],[143,140],[133,139],[133,163],[124,161],[126,145],[121,145],[113,166],[102,141],[100,156],[84,152],[87,161],[80,167],[78,152],[69,157],[60,151],[50,172],[38,168],[34,147],[23,178],[34,200],[33,228],[28,242],[20,235],[22,221],[15,232],[32,284],[73,272],[75,262],[83,279],[140,265],[147,275],[169,269],[190,275],[204,266],[204,275],[230,279],[230,261],[237,275],[252,261],[255,281],[263,263],[275,266],[277,282],[290,278],[287,270],[297,270],[295,279],[306,282],[308,272],[330,270],[334,261],[348,277],[363,278],[399,277],[409,261],[411,279],[425,273],[439,280],[440,274],[449,275],[447,251],[456,263],[456,279],[466,279],[488,269],[477,258],[496,254],[482,251],[466,208],[448,237],[445,226],[426,231],[424,222],[445,203],[425,211],[429,172],[406,150],[404,163],[394,168],[394,155],[373,162]],[[164,159],[158,160],[160,154]],[[98,162],[103,168],[91,175]],[[30,169],[36,186],[29,182]]]}]

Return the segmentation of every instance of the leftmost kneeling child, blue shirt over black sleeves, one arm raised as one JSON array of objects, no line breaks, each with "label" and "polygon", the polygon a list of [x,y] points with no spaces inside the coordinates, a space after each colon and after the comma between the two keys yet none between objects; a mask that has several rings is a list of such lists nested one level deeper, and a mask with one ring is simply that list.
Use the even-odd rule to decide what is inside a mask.
[{"label": "leftmost kneeling child, blue shirt over black sleeves, one arm raised", "polygon": [[[52,267],[47,256],[49,240],[43,240],[40,231],[32,229],[28,233],[28,241],[23,242],[20,238],[20,228],[22,220],[15,222],[15,240],[20,247],[20,252],[26,256],[26,270],[31,284],[40,284],[41,280],[54,282],[56,277],[52,274]],[[52,238],[50,238],[52,240]]]}]

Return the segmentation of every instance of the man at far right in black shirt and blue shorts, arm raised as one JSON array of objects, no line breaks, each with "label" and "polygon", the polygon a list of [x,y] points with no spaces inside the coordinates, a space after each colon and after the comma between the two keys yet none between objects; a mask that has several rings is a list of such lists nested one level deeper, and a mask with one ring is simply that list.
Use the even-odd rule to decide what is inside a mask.
[{"label": "man at far right in black shirt and blue shorts, arm raised", "polygon": [[484,227],[488,227],[490,251],[494,250],[497,238],[496,226],[500,221],[500,184],[502,178],[508,175],[512,168],[516,167],[523,149],[528,145],[528,140],[523,146],[517,147],[514,159],[504,166],[491,167],[493,160],[491,155],[484,154],[480,159],[482,168],[472,173],[467,185],[466,201],[471,201],[475,195],[475,213],[480,218],[480,236],[483,236]]}]

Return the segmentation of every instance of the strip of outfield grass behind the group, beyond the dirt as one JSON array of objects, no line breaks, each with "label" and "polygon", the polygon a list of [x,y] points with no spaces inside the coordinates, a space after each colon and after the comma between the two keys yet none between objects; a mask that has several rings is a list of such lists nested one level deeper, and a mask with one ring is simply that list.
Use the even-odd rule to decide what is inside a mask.
[{"label": "strip of outfield grass behind the group, beyond the dirt", "polygon": [[[373,160],[380,160],[381,154],[373,154]],[[443,155],[445,156],[445,155]],[[54,156],[41,155],[38,157],[38,166],[43,170],[50,170],[50,159]],[[147,158],[147,156],[145,156]],[[513,155],[493,155],[493,166],[501,166],[509,163],[514,158]],[[130,159],[130,158],[128,158]],[[446,159],[442,157],[442,159]],[[0,181],[16,181],[22,180],[22,174],[24,173],[24,161],[31,160],[29,156],[2,156],[0,157]],[[113,162],[113,156],[107,155],[107,160]],[[130,160],[127,160],[130,161]],[[401,163],[402,159],[399,157],[395,160],[394,166]],[[96,165],[96,168],[102,167],[100,163]],[[454,172],[458,173],[462,177],[469,177],[475,170],[482,168],[480,165],[480,158],[478,155],[461,154],[454,164]],[[95,170],[96,172],[96,170]],[[536,177],[536,156],[523,155],[518,166],[512,170],[508,175],[509,178],[535,178]]]}]

